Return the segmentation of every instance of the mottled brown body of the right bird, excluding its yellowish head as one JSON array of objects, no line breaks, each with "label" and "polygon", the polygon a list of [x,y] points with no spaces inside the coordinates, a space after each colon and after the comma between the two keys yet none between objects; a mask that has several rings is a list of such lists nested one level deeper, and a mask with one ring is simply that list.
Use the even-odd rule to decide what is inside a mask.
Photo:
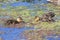
[{"label": "mottled brown body of the right bird, excluding its yellowish head", "polygon": [[42,22],[54,22],[54,19],[53,19],[54,16],[55,16],[55,14],[53,12],[43,14],[41,17],[41,21]]}]

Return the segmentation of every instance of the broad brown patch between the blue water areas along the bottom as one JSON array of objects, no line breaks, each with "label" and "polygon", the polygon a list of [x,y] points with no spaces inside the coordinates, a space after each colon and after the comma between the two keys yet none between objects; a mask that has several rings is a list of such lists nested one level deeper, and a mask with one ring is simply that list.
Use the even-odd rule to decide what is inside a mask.
[{"label": "broad brown patch between the blue water areas along the bottom", "polygon": [[[60,32],[57,32],[59,34]],[[23,35],[27,40],[43,40],[45,36],[57,35],[55,30],[26,30],[23,32]]]}]

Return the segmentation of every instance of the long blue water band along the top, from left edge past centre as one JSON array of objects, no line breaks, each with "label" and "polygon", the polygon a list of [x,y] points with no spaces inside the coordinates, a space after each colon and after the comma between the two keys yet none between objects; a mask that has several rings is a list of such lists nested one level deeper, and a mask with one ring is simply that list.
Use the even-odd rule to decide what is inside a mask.
[{"label": "long blue water band along the top, from left edge past centre", "polygon": [[16,6],[30,6],[31,4],[46,4],[47,0],[35,0],[33,3],[28,3],[28,2],[13,2],[13,3],[2,3],[3,5],[1,6],[2,8],[6,8],[7,6],[12,6],[12,7],[16,7]]}]

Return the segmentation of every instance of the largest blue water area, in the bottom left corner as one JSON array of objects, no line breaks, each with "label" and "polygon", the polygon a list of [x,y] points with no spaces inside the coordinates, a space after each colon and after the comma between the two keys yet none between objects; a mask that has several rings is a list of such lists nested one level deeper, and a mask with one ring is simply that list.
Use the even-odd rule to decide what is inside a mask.
[{"label": "largest blue water area, in the bottom left corner", "polygon": [[26,40],[25,38],[22,38],[22,32],[33,29],[34,28],[0,28],[0,38],[3,38],[4,40]]}]

